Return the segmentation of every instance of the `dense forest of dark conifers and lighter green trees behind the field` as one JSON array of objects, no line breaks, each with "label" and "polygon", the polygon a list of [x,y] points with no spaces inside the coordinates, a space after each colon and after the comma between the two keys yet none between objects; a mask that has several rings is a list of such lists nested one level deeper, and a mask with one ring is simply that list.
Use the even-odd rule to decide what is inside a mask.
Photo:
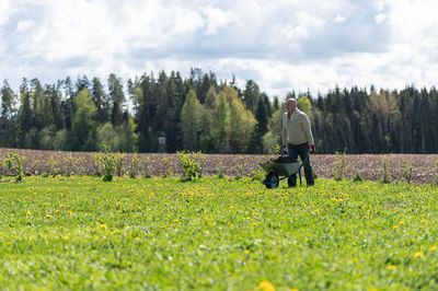
[{"label": "dense forest of dark conifers and lighter green trees behind the field", "polygon": [[[285,101],[311,120],[320,153],[430,153],[438,148],[435,88],[402,91],[339,89],[311,96],[290,92],[269,97],[253,80],[243,89],[234,78],[192,69],[126,84],[114,73],[106,88],[83,75],[42,84],[23,79],[20,92],[1,86],[0,147],[66,151],[272,153],[280,143]],[[129,105],[129,109],[128,109]]]}]

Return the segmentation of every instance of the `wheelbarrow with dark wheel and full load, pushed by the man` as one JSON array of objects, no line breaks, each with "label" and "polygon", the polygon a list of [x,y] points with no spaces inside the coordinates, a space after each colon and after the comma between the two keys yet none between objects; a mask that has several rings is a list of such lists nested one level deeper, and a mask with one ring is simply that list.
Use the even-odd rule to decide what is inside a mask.
[{"label": "wheelbarrow with dark wheel and full load, pushed by the man", "polygon": [[266,186],[266,188],[274,189],[278,187],[278,184],[281,179],[288,178],[288,186],[290,187],[293,184],[292,175],[298,173],[300,177],[300,185],[302,185],[301,167],[309,159],[309,154],[310,152],[308,152],[304,161],[301,161],[301,163],[298,161],[291,162],[291,159],[284,156],[283,152],[278,159],[268,163],[261,163],[260,166],[267,173],[263,184]]}]

